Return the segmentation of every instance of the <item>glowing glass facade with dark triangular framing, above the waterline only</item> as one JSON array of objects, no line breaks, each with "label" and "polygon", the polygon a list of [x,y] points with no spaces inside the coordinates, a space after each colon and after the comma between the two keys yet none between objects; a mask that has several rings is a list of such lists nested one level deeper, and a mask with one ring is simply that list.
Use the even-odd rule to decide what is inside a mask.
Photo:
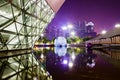
[{"label": "glowing glass facade with dark triangular framing, above the waterline only", "polygon": [[46,0],[1,0],[0,50],[32,48],[54,15]]}]

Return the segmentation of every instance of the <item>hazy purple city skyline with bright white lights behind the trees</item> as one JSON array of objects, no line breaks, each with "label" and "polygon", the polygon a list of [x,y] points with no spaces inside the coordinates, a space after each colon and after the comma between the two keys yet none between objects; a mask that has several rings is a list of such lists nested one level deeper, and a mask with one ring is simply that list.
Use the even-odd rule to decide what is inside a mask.
[{"label": "hazy purple city skyline with bright white lights behind the trees", "polygon": [[64,36],[65,38],[76,36],[79,38],[91,37],[94,38],[97,36],[97,33],[94,31],[93,22],[75,22],[74,24],[66,24],[62,27],[51,26],[48,27],[44,34],[48,39],[54,39],[59,36]]}]

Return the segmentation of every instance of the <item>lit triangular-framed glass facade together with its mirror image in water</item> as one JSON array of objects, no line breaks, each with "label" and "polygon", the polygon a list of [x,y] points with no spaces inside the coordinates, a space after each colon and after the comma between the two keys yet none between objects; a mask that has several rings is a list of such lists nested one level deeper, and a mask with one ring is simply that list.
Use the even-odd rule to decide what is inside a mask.
[{"label": "lit triangular-framed glass facade together with its mirror image in water", "polygon": [[32,52],[55,12],[46,0],[0,0],[0,80],[51,80]]}]

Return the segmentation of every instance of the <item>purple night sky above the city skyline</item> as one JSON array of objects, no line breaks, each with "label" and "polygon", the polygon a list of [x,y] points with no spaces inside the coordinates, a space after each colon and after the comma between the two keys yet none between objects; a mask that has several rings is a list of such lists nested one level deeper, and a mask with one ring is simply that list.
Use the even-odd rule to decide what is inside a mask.
[{"label": "purple night sky above the city skyline", "polygon": [[95,31],[110,30],[120,23],[120,0],[66,0],[50,26],[92,21]]}]

